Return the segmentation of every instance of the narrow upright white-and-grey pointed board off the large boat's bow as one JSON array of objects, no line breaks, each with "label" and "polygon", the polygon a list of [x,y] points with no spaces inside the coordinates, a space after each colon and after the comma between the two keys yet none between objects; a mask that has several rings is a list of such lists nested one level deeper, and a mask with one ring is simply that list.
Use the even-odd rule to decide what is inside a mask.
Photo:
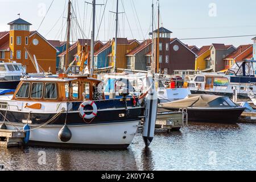
[{"label": "narrow upright white-and-grey pointed board off the large boat's bow", "polygon": [[155,82],[152,75],[147,76],[147,91],[146,108],[145,108],[145,121],[143,129],[143,140],[146,147],[150,146],[155,134],[155,121],[158,108],[158,95],[155,89]]}]

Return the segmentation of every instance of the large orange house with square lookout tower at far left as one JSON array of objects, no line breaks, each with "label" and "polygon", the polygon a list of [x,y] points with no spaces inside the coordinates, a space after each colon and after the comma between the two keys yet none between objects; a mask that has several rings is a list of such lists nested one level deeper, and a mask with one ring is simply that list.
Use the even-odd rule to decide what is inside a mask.
[{"label": "large orange house with square lookout tower at far left", "polygon": [[10,31],[0,33],[1,60],[17,61],[23,64],[27,73],[35,73],[36,69],[30,59],[35,55],[44,71],[51,69],[55,73],[58,50],[39,32],[30,31],[31,23],[19,18],[8,24]]}]

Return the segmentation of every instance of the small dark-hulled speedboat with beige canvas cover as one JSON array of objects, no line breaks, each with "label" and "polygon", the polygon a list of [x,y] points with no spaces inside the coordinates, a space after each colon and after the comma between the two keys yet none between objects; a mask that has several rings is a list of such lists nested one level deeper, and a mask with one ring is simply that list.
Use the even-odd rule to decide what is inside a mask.
[{"label": "small dark-hulled speedboat with beige canvas cover", "polygon": [[245,110],[245,107],[236,105],[229,97],[207,94],[192,94],[183,100],[167,102],[159,107],[168,110],[185,108],[189,121],[210,123],[236,123]]}]

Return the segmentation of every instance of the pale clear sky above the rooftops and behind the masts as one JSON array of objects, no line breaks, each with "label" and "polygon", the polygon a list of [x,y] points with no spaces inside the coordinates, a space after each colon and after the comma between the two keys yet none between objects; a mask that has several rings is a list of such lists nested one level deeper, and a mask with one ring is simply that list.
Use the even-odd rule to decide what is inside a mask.
[{"label": "pale clear sky above the rooftops and behind the masts", "polygon": [[[0,0],[2,5],[0,31],[9,30],[7,23],[18,18],[17,14],[20,13],[20,18],[33,24],[31,30],[39,28],[39,33],[47,39],[65,40],[67,1],[54,0],[39,28],[52,0]],[[90,35],[92,6],[84,1],[72,0],[75,11],[73,16],[76,16],[72,18],[72,40],[74,41],[76,38],[86,38]],[[92,2],[92,0],[86,1]],[[114,14],[109,11],[115,11],[116,0],[96,0],[96,3],[106,3],[104,16],[102,16],[104,6],[97,6],[96,9],[97,31],[102,19],[98,39],[109,40],[114,37],[115,21]],[[118,35],[138,40],[148,38],[151,26],[151,3],[152,0],[119,0],[119,11],[125,13],[119,14]],[[154,4],[156,5],[156,0]],[[255,9],[255,0],[160,0],[160,22],[165,28],[174,32],[173,38],[179,39],[254,35],[256,34]],[[154,15],[156,15],[156,7]],[[84,32],[84,35],[81,32]],[[251,38],[253,37],[182,41],[198,47],[211,43],[239,46],[252,43]]]}]

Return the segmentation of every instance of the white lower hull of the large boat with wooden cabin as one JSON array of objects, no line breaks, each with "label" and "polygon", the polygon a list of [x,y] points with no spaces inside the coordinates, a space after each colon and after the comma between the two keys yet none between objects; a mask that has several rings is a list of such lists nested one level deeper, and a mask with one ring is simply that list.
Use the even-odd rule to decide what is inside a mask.
[{"label": "white lower hull of the large boat with wooden cabin", "polygon": [[[59,131],[63,126],[44,126],[35,129],[39,125],[30,125],[30,143],[42,143],[46,146],[63,146],[63,147],[92,147],[92,148],[112,148],[110,146],[127,147],[133,141],[138,131],[140,121],[120,122],[120,123],[104,123],[97,125],[76,125],[68,126],[71,130],[72,138],[68,142],[61,142],[58,137]],[[8,130],[14,130],[15,127],[22,129],[20,123],[5,123]],[[15,127],[14,127],[15,126]],[[97,147],[99,146],[99,147]]]}]

